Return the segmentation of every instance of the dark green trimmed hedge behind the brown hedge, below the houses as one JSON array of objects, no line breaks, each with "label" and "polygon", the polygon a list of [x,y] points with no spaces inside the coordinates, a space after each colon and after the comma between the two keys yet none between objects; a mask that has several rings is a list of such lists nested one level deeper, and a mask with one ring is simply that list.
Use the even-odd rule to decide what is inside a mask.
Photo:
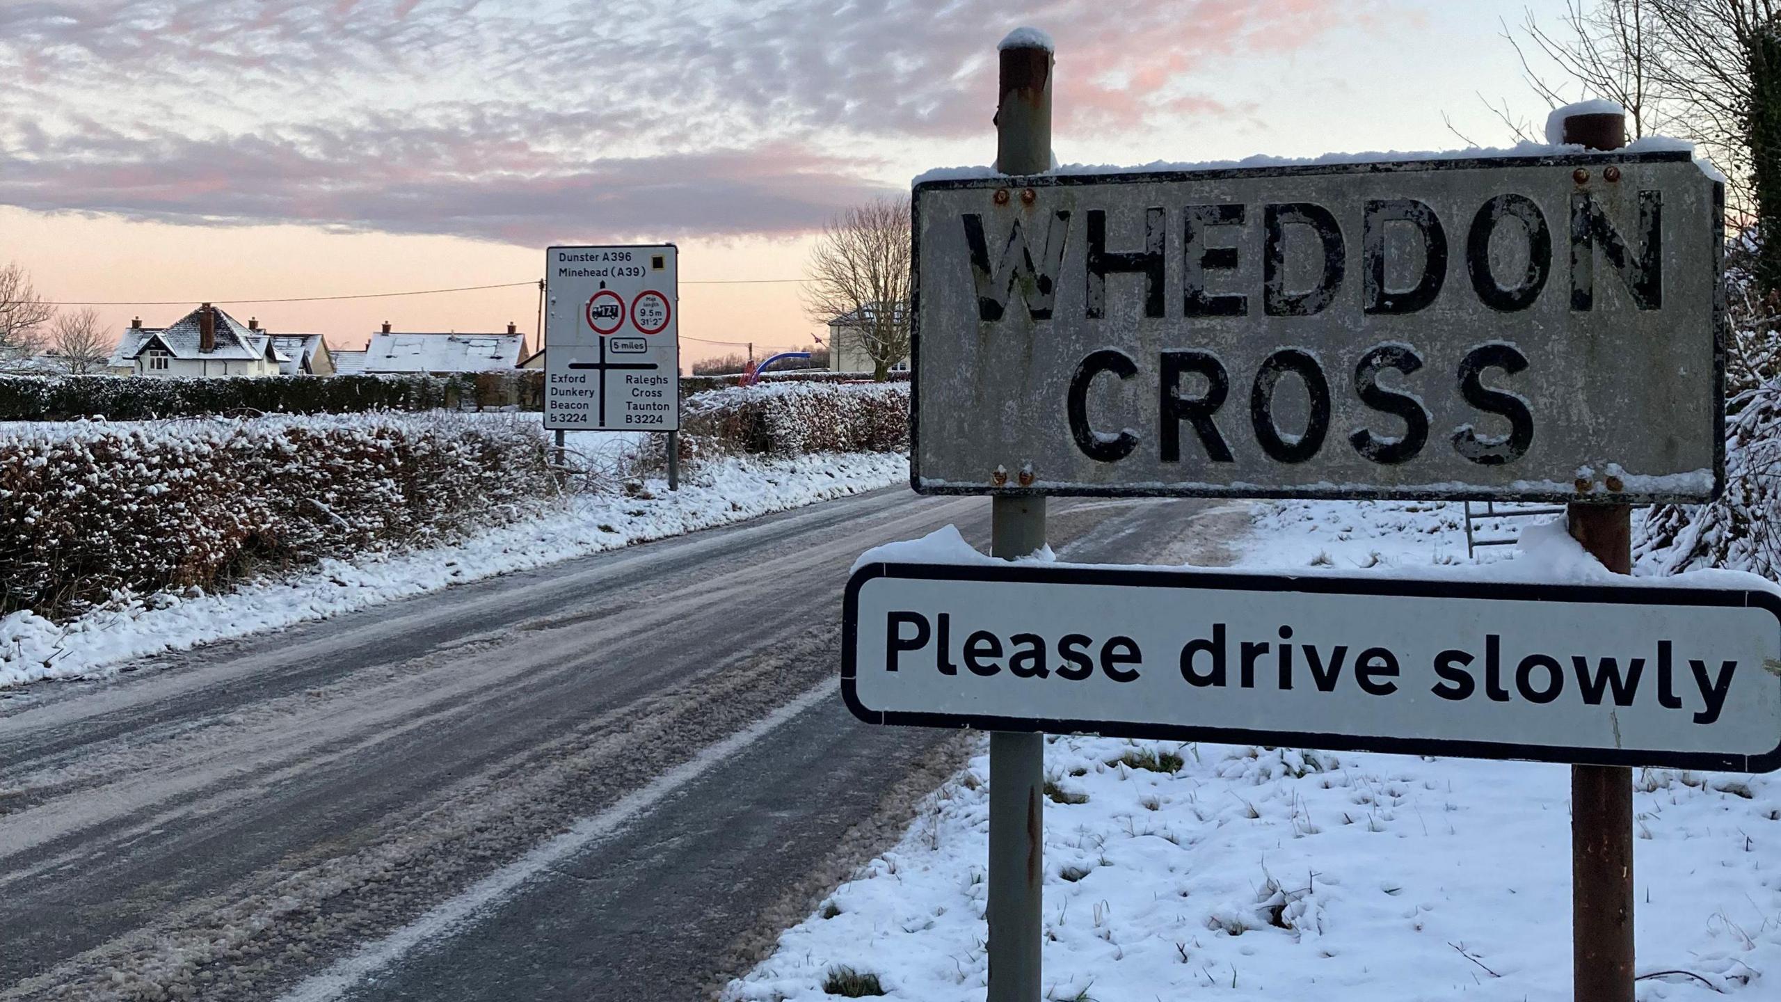
[{"label": "dark green trimmed hedge behind the brown hedge, below the houses", "polygon": [[543,408],[541,371],[458,376],[0,376],[0,421],[151,421],[210,414],[354,414],[367,410]]}]

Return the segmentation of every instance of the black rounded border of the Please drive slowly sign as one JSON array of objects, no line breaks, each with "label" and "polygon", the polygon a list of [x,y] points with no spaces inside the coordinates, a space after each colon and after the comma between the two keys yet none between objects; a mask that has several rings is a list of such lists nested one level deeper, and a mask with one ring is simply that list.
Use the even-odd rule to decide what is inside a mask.
[{"label": "black rounded border of the Please drive slowly sign", "polygon": [[[1614,587],[1614,585],[1517,585],[1494,581],[1414,581],[1391,578],[1293,578],[1286,574],[1227,574],[1209,571],[1138,571],[1126,567],[1044,567],[1031,563],[866,563],[848,578],[841,612],[841,699],[867,724],[915,727],[972,727],[978,731],[1021,731],[1051,735],[1108,735],[1115,738],[1161,738],[1175,742],[1218,742],[1248,745],[1313,747],[1329,751],[1368,751],[1389,754],[1435,754],[1576,765],[1628,765],[1662,768],[1706,768],[1719,772],[1774,772],[1781,768],[1781,735],[1776,747],[1756,756],[1722,752],[1667,752],[1660,749],[1582,749],[1565,745],[1526,745],[1512,742],[1460,742],[1444,738],[1391,738],[1364,735],[1327,735],[1314,731],[1248,731],[1240,727],[1197,727],[1177,724],[1134,724],[1117,720],[1054,720],[994,717],[969,713],[880,711],[860,702],[858,612],[860,588],[878,578],[917,581],[1019,581],[1040,585],[1102,585],[1143,588],[1216,588],[1245,592],[1305,592],[1318,595],[1380,595],[1437,599],[1510,599],[1592,604],[1662,604],[1678,608],[1729,606],[1760,608],[1776,617],[1781,633],[1781,597],[1770,592]],[[1777,681],[1781,685],[1781,681]]]}]

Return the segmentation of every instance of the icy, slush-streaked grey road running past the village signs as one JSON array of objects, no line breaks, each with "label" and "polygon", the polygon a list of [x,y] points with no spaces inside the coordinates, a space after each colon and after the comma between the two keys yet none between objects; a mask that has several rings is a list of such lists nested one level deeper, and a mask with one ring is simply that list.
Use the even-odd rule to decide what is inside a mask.
[{"label": "icy, slush-streaked grey road running past the village signs", "polygon": [[[956,735],[835,694],[841,587],[988,501],[905,489],[0,701],[0,1000],[705,998],[896,840]],[[1053,503],[1220,563],[1241,506]]]}]

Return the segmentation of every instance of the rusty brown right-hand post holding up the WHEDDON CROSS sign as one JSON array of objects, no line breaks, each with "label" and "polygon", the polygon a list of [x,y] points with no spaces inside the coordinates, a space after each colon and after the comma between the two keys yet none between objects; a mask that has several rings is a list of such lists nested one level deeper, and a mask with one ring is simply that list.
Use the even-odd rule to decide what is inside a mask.
[{"label": "rusty brown right-hand post holding up the WHEDDON CROSS sign", "polygon": [[[1564,141],[1626,144],[1619,114],[1574,114]],[[1630,505],[1565,506],[1571,537],[1615,574],[1633,572]],[[1633,1002],[1633,770],[1571,767],[1571,984],[1576,1002]]]}]

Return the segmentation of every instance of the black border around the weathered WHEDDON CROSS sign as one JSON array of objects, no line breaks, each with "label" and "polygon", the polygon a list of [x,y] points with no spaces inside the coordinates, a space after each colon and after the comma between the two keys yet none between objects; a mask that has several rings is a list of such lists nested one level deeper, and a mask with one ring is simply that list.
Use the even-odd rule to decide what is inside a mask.
[{"label": "black border around the weathered WHEDDON CROSS sign", "polygon": [[[1325,501],[1585,501],[1590,505],[1665,505],[1717,501],[1726,489],[1726,301],[1724,283],[1713,296],[1713,489],[1708,496],[1662,492],[1592,492],[1562,490],[1509,490],[1503,487],[1460,487],[1434,490],[1416,487],[1131,487],[1070,483],[1060,487],[992,487],[988,483],[926,483],[921,478],[921,193],[994,189],[994,187],[1078,187],[1115,184],[1170,184],[1193,180],[1227,180],[1254,177],[1320,177],[1320,175],[1395,175],[1416,171],[1459,171],[1487,168],[1589,168],[1606,164],[1687,164],[1694,162],[1685,150],[1658,150],[1647,153],[1555,153],[1541,157],[1466,157],[1453,160],[1380,160],[1350,164],[1288,164],[1272,168],[1216,168],[1204,171],[1131,171],[1104,175],[992,175],[972,178],[924,180],[910,189],[910,330],[908,330],[908,487],[915,494],[967,494],[994,497],[1305,497]],[[1724,216],[1726,185],[1713,184],[1717,216]],[[1712,230],[1715,273],[1724,273],[1724,241]]]}]

